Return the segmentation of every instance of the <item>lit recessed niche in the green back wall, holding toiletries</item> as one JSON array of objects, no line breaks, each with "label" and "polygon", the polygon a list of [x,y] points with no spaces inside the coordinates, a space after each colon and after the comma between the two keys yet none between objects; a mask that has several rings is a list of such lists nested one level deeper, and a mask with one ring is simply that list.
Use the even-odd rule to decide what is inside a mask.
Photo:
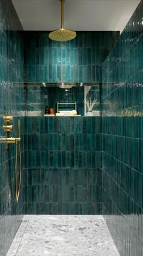
[{"label": "lit recessed niche in the green back wall, holding toiletries", "polygon": [[[85,99],[97,99],[98,105],[93,108],[93,115],[100,115],[100,85],[72,85],[65,86],[50,85],[26,85],[25,103],[27,116],[44,116],[46,105],[52,107],[57,113],[57,102],[76,102],[78,115],[87,114]],[[62,110],[73,110],[74,105],[63,105]]]}]

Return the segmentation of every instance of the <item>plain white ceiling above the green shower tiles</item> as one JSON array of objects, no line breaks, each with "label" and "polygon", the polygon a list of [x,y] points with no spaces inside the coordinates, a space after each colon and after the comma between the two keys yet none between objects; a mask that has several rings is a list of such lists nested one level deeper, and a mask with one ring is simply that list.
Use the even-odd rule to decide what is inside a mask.
[{"label": "plain white ceiling above the green shower tiles", "polygon": [[[24,30],[61,28],[60,0],[12,0]],[[65,0],[64,28],[122,31],[140,0]]]}]

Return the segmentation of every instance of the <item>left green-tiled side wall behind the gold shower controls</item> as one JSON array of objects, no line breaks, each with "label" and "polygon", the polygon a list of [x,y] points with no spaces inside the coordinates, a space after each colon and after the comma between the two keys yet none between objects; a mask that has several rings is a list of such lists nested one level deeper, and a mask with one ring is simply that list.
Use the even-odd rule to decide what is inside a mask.
[{"label": "left green-tiled side wall behind the gold shower controls", "polygon": [[[17,121],[21,121],[22,167],[24,166],[24,46],[22,26],[12,1],[0,1],[0,137],[5,136],[3,116],[13,116],[13,137],[18,137]],[[19,159],[19,154],[18,154]],[[19,177],[19,162],[18,162]],[[5,256],[13,241],[24,209],[23,195],[15,200],[15,144],[6,151],[0,143],[0,255]]]}]

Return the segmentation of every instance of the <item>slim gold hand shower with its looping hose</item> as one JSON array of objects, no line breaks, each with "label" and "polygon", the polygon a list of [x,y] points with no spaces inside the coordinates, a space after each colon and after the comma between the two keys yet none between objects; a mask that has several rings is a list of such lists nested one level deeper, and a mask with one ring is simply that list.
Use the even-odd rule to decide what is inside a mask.
[{"label": "slim gold hand shower with its looping hose", "polygon": [[[20,138],[20,121],[18,120],[18,138]],[[19,186],[17,180],[17,163],[18,163],[18,143],[19,143],[19,159],[20,159],[20,174],[19,174]],[[22,164],[21,164],[21,141],[16,141],[16,148],[15,148],[15,195],[16,195],[16,202],[19,199],[19,193],[21,188],[21,172],[22,172]]]}]

